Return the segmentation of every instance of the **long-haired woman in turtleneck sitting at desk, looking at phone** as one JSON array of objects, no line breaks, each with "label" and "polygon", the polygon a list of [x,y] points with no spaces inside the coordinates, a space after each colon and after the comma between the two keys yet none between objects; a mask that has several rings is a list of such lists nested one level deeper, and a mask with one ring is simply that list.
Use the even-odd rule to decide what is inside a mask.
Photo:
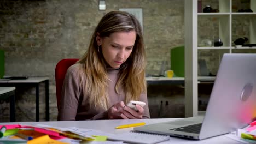
[{"label": "long-haired woman in turtleneck sitting at desk, looking at phone", "polygon": [[[142,29],[135,16],[112,11],[102,17],[88,51],[69,67],[59,121],[150,118]],[[125,106],[144,101],[138,111]]]}]

